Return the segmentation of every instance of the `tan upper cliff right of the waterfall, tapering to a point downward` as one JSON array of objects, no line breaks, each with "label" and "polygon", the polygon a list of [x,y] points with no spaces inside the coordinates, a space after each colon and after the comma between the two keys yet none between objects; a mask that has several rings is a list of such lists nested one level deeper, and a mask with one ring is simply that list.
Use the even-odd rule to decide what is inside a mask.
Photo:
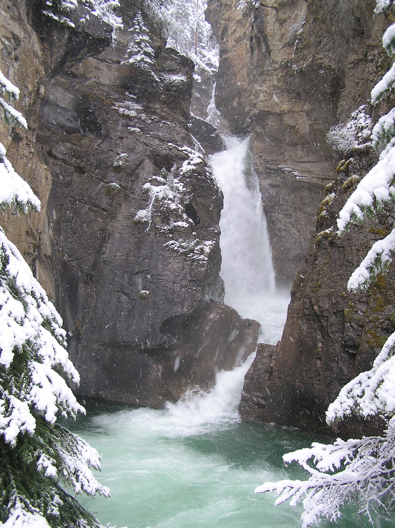
[{"label": "tan upper cliff right of the waterfall, tapering to a point downward", "polygon": [[251,134],[277,284],[291,284],[339,161],[325,135],[369,99],[383,71],[372,0],[209,0],[220,44],[217,107]]}]

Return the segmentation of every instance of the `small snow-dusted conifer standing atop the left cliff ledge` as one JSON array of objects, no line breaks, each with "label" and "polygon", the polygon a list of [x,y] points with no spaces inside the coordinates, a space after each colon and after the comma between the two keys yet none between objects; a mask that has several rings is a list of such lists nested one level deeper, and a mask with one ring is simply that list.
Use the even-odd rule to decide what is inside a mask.
[{"label": "small snow-dusted conifer standing atop the left cliff ledge", "polygon": [[140,11],[137,11],[133,27],[129,29],[129,32],[132,37],[126,50],[125,59],[122,62],[151,70],[155,64],[155,53],[151,48],[149,32],[144,25]]}]

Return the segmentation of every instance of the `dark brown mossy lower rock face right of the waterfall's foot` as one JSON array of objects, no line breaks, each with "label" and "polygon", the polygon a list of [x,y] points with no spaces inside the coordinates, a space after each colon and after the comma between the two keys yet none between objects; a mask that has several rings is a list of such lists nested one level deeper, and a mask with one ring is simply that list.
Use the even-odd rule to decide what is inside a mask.
[{"label": "dark brown mossy lower rock face right of the waterfall's foot", "polygon": [[[378,215],[338,238],[331,222],[352,190],[350,180],[331,185],[322,202],[328,219],[324,225],[317,222],[319,233],[294,281],[283,337],[276,346],[259,346],[256,364],[246,376],[241,406],[250,419],[328,432],[328,404],[345,383],[371,368],[393,332],[393,267],[367,293],[347,291],[352,272],[373,242],[391,232],[393,213],[390,218]],[[349,420],[337,433],[371,434],[375,427],[372,421]]]}]

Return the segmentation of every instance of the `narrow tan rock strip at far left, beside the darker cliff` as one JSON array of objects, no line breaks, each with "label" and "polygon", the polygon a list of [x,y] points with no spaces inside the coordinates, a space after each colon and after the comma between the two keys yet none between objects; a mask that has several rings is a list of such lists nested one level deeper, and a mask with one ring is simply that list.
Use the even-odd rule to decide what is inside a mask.
[{"label": "narrow tan rock strip at far left, beside the darker cliff", "polygon": [[51,242],[46,218],[46,204],[51,190],[51,174],[41,163],[35,149],[38,113],[44,91],[45,61],[40,39],[28,22],[24,6],[5,0],[0,9],[2,48],[0,68],[12,82],[23,87],[15,107],[29,122],[29,129],[8,127],[0,120],[1,142],[18,174],[23,174],[33,191],[40,197],[41,212],[29,215],[15,211],[2,214],[1,225],[7,237],[17,244],[29,265],[35,270],[50,297],[55,295],[55,284],[50,267]]}]

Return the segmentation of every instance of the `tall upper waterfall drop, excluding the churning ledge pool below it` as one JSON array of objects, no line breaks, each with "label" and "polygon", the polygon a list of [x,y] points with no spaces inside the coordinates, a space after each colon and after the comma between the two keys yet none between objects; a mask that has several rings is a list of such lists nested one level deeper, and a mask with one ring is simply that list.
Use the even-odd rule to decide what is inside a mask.
[{"label": "tall upper waterfall drop, excluding the churning ledge pool below it", "polygon": [[249,138],[225,136],[225,142],[227,150],[213,154],[210,163],[223,192],[221,276],[229,304],[252,291],[274,291],[275,272]]}]

